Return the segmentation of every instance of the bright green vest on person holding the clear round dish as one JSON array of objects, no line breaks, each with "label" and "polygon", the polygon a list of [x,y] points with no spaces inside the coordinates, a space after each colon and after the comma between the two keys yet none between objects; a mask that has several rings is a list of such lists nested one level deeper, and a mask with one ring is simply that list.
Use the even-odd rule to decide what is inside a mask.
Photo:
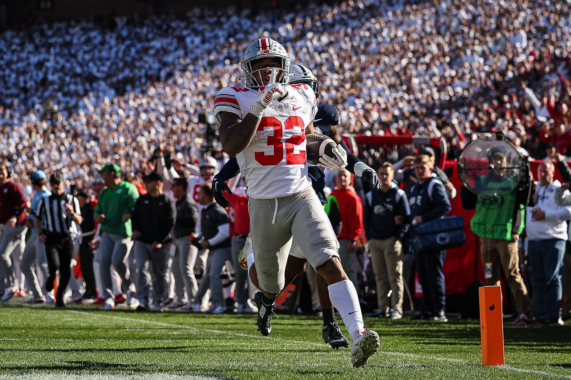
[{"label": "bright green vest on person holding the clear round dish", "polygon": [[[485,177],[481,177],[481,179],[485,181]],[[506,181],[512,181],[512,179],[508,178]],[[505,181],[485,183],[487,189],[505,186]],[[525,228],[525,206],[521,204],[516,206],[516,198],[516,191],[496,197],[478,195],[476,214],[470,221],[472,231],[480,238],[512,240],[514,209],[519,207],[521,224],[517,234],[521,234]]]}]

